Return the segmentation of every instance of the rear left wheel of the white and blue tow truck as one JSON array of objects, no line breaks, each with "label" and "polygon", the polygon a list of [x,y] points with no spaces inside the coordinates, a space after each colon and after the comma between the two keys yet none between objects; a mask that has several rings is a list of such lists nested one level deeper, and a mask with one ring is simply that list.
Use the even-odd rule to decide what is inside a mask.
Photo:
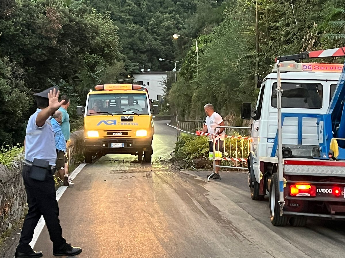
[{"label": "rear left wheel of the white and blue tow truck", "polygon": [[269,189],[269,214],[273,226],[284,227],[288,218],[280,216],[278,173],[273,173]]}]

